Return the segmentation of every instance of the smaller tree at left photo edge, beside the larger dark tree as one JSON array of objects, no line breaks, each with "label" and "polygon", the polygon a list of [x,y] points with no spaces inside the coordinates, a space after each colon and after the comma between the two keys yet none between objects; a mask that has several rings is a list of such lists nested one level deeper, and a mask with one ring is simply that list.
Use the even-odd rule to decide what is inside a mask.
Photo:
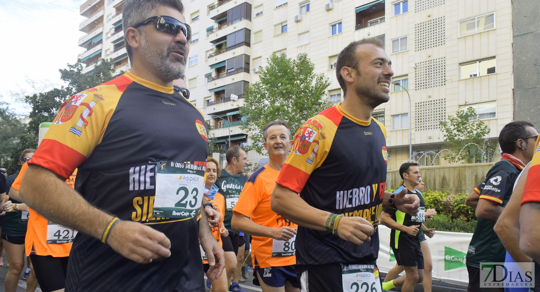
[{"label": "smaller tree at left photo edge, beside the larger dark tree", "polygon": [[8,169],[8,174],[21,168],[23,150],[37,146],[36,136],[28,132],[22,119],[6,103],[0,103],[0,141],[0,165]]}]

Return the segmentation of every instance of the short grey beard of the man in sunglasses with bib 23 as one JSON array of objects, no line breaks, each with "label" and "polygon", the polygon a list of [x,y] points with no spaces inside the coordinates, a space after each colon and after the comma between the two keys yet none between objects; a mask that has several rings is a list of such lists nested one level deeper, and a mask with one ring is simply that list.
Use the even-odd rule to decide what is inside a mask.
[{"label": "short grey beard of the man in sunglasses with bib 23", "polygon": [[[168,47],[166,52],[158,50],[147,42],[145,33],[141,30],[141,44],[139,46],[139,53],[150,63],[156,66],[156,69],[163,74],[167,79],[164,81],[170,82],[172,80],[180,79],[186,73],[186,55],[184,57],[170,57],[171,51],[183,51],[186,52],[186,47],[181,44]],[[171,60],[173,59],[173,60]]]}]

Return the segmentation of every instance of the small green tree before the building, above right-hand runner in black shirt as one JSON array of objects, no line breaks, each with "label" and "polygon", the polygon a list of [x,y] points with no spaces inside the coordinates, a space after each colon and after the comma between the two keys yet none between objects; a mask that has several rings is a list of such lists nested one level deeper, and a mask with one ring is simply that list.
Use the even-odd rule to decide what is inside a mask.
[{"label": "small green tree before the building, above right-hand runner in black shirt", "polygon": [[448,121],[440,121],[445,141],[452,152],[443,155],[444,160],[467,163],[489,162],[495,151],[496,142],[488,140],[489,126],[478,120],[476,110],[462,107]]}]

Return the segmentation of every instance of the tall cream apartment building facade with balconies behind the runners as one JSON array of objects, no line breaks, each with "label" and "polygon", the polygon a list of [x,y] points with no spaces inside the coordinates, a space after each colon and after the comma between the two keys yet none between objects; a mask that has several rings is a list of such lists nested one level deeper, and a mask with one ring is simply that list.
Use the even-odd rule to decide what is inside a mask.
[{"label": "tall cream apartment building facade with balconies behind the runners", "polygon": [[[91,73],[99,58],[113,58],[118,70],[129,69],[120,29],[123,1],[89,0],[81,6],[87,17],[79,27],[87,32],[79,40],[86,49],[79,56],[85,72]],[[409,130],[413,159],[422,165],[447,164],[437,155],[446,148],[438,123],[465,105],[489,125],[491,139],[514,118],[510,0],[183,3],[192,27],[186,64],[190,101],[205,114],[222,151],[251,143],[241,129],[239,107],[245,86],[259,80],[269,56],[307,53],[315,72],[330,80],[323,98],[337,104],[343,96],[335,78],[336,58],[348,43],[366,37],[382,40],[392,59],[393,81],[410,94],[409,110],[407,91],[392,85],[390,101],[373,113],[386,126],[388,168],[410,158]],[[267,161],[254,152],[248,157],[253,165]]]}]

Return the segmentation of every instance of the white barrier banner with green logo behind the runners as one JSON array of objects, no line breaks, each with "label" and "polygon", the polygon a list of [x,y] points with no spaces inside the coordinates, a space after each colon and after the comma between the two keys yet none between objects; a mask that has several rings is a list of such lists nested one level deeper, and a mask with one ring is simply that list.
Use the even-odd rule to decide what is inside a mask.
[{"label": "white barrier banner with green logo behind the runners", "polygon": [[[469,274],[465,266],[465,257],[472,233],[436,231],[427,242],[433,261],[433,281],[467,285]],[[380,250],[377,267],[387,273],[396,265],[393,252],[390,252],[390,228],[379,225]]]}]

